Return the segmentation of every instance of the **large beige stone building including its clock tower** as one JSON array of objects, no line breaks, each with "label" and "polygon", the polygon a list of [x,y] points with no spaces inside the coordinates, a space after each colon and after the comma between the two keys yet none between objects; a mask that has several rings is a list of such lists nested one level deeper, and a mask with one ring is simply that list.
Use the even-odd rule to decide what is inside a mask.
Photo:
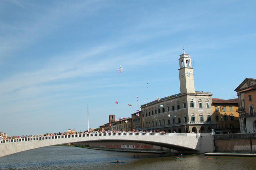
[{"label": "large beige stone building including its clock tower", "polygon": [[142,130],[164,132],[208,132],[212,117],[211,92],[195,91],[191,57],[179,58],[180,93],[141,105]]}]

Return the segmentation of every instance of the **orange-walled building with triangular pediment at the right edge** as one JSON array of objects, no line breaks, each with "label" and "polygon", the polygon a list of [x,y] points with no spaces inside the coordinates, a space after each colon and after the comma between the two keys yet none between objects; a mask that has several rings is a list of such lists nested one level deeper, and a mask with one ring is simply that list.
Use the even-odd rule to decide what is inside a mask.
[{"label": "orange-walled building with triangular pediment at the right edge", "polygon": [[256,132],[256,79],[246,78],[236,89],[241,133]]}]

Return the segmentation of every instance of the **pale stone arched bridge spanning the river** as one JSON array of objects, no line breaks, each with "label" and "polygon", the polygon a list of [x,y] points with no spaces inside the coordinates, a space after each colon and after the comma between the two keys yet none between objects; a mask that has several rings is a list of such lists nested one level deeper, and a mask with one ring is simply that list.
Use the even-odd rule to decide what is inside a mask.
[{"label": "pale stone arched bridge spanning the river", "polygon": [[213,152],[214,148],[211,133],[86,133],[0,140],[0,157],[40,147],[82,141],[138,142],[195,153]]}]

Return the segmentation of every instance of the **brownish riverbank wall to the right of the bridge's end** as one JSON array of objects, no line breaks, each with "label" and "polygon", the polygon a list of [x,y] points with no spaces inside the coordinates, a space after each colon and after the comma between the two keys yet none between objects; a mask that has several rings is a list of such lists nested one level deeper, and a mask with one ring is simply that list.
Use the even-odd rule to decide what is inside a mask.
[{"label": "brownish riverbank wall to the right of the bridge's end", "polygon": [[215,134],[215,152],[256,152],[256,133]]}]

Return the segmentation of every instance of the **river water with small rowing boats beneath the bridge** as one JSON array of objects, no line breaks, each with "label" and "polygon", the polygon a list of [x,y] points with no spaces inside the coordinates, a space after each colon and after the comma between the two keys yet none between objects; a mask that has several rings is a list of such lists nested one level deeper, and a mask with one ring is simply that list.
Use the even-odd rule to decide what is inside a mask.
[{"label": "river water with small rowing boats beneath the bridge", "polygon": [[[134,154],[136,157],[134,157]],[[139,155],[139,156],[138,156]],[[255,170],[256,157],[186,155],[159,157],[159,154],[49,146],[0,158],[1,170]],[[125,163],[111,163],[116,160]]]}]

